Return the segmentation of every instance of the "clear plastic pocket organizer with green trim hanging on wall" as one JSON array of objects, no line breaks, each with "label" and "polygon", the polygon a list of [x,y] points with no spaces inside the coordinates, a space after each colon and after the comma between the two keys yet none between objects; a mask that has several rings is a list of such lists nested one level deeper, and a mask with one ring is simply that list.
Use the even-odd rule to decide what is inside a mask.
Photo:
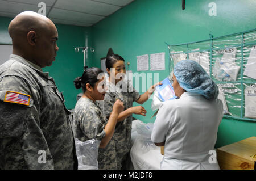
[{"label": "clear plastic pocket organizer with green trim hanging on wall", "polygon": [[[168,44],[167,44],[168,45]],[[184,58],[198,62],[220,90],[224,117],[256,121],[256,29],[208,40],[168,45],[170,78]]]}]

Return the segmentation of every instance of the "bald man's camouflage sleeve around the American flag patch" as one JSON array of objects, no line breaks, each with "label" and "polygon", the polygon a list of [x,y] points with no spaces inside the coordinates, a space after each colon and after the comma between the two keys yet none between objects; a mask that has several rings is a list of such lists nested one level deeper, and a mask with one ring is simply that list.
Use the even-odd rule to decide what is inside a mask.
[{"label": "bald man's camouflage sleeve around the American flag patch", "polygon": [[[40,129],[38,91],[15,76],[1,78],[0,87],[0,169],[54,169]],[[22,94],[22,98],[29,95],[28,104],[8,102],[9,91]]]}]

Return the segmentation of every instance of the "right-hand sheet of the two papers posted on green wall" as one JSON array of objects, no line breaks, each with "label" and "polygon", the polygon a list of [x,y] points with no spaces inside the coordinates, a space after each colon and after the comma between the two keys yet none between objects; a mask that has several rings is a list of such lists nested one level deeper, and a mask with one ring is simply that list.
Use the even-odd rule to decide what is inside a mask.
[{"label": "right-hand sheet of the two papers posted on green wall", "polygon": [[166,69],[166,53],[155,53],[150,55],[150,70]]}]

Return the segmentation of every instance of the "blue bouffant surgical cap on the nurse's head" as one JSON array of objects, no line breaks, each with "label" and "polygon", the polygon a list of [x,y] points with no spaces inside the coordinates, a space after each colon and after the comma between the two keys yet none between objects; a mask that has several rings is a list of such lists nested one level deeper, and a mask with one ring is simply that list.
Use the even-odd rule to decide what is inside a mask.
[{"label": "blue bouffant surgical cap on the nurse's head", "polygon": [[201,94],[208,100],[218,97],[218,86],[197,62],[193,60],[178,62],[174,67],[174,75],[184,90]]}]

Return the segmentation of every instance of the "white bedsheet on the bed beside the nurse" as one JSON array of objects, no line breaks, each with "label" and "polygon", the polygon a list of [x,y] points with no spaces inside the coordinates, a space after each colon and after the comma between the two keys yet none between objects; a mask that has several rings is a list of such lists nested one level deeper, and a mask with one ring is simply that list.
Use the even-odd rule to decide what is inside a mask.
[{"label": "white bedsheet on the bed beside the nurse", "polygon": [[160,147],[152,146],[150,150],[143,150],[144,142],[138,136],[136,124],[142,123],[140,120],[134,120],[131,129],[132,147],[130,151],[131,162],[136,170],[158,170],[163,155],[160,154]]}]

